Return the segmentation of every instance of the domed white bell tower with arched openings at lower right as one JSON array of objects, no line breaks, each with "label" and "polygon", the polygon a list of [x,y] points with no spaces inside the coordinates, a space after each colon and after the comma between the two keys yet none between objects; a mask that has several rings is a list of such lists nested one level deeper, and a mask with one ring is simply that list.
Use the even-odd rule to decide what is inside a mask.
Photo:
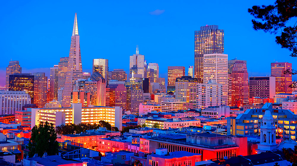
[{"label": "domed white bell tower with arched openings at lower right", "polygon": [[277,147],[275,143],[276,127],[269,110],[265,111],[260,130],[260,144],[258,144],[258,149],[256,149],[257,153],[260,154],[261,152],[275,149]]}]

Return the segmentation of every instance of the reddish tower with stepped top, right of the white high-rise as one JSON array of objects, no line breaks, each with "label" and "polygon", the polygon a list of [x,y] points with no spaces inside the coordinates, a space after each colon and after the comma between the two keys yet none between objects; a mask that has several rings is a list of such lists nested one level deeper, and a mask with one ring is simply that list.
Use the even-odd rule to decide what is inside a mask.
[{"label": "reddish tower with stepped top, right of the white high-rise", "polygon": [[231,106],[239,107],[249,103],[249,73],[247,64],[236,61],[232,67]]}]

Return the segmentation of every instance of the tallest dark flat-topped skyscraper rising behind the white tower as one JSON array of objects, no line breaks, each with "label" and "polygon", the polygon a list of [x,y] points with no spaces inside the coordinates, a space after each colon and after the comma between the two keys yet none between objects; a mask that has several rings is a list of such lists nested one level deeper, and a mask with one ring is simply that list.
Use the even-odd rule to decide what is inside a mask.
[{"label": "tallest dark flat-topped skyscraper rising behind the white tower", "polygon": [[[194,77],[203,82],[203,54],[224,53],[224,30],[218,25],[201,26],[195,31]],[[206,81],[207,82],[207,81]]]}]

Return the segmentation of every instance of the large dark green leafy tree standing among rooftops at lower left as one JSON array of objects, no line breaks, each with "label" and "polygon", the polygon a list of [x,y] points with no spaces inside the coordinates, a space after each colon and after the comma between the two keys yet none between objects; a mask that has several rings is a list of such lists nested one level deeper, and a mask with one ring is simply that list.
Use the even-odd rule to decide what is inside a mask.
[{"label": "large dark green leafy tree standing among rooftops at lower left", "polygon": [[38,156],[42,156],[45,152],[48,155],[54,155],[58,153],[57,134],[55,132],[52,123],[40,122],[39,125],[35,125],[31,130],[31,138],[29,140],[29,156],[34,156],[35,153]]}]

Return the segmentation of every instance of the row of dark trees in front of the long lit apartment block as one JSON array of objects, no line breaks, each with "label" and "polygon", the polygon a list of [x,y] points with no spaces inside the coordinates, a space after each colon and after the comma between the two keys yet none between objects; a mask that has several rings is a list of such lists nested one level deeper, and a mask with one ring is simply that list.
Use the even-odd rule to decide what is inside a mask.
[{"label": "row of dark trees in front of the long lit apartment block", "polygon": [[66,135],[66,134],[79,134],[85,133],[86,130],[98,129],[99,127],[105,127],[107,130],[119,131],[117,127],[112,127],[108,122],[100,120],[99,123],[80,123],[78,125],[60,125],[56,126],[56,133]]}]

